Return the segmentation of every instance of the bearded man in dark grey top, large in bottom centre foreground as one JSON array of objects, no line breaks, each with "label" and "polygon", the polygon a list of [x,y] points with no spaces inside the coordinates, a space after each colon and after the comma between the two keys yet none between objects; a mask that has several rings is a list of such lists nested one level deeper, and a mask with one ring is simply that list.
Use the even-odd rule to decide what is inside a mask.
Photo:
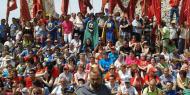
[{"label": "bearded man in dark grey top, large in bottom centre foreground", "polygon": [[89,76],[89,82],[76,89],[76,95],[111,95],[110,89],[102,83],[102,76],[99,70],[93,69]]}]

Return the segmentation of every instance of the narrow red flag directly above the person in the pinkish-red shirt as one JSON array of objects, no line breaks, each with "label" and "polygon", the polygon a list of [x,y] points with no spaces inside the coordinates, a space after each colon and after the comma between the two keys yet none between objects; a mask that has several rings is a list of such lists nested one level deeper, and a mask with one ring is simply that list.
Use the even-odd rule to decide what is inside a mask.
[{"label": "narrow red flag directly above the person in the pinkish-red shirt", "polygon": [[61,11],[63,15],[67,15],[69,7],[69,0],[62,0]]}]

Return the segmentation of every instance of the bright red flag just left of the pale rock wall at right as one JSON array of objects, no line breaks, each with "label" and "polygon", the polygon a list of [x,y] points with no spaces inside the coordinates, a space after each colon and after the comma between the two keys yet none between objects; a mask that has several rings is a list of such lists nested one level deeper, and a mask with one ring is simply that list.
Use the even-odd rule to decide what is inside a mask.
[{"label": "bright red flag just left of the pale rock wall at right", "polygon": [[154,16],[156,17],[156,22],[158,25],[161,24],[161,0],[152,0],[152,9],[154,11]]}]

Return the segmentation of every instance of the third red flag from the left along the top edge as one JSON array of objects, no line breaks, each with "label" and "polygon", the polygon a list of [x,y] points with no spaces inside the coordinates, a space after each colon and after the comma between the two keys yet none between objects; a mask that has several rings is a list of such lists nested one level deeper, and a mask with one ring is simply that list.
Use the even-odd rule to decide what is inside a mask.
[{"label": "third red flag from the left along the top edge", "polygon": [[33,0],[32,18],[36,17],[36,14],[42,10],[43,10],[42,1],[41,0]]}]

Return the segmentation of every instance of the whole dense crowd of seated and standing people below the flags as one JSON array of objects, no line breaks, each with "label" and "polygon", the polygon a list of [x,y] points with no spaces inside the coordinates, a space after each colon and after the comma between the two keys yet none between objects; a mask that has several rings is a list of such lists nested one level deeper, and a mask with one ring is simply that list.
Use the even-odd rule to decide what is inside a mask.
[{"label": "whole dense crowd of seated and standing people below the flags", "polygon": [[124,14],[0,24],[0,95],[190,95],[189,27]]}]

